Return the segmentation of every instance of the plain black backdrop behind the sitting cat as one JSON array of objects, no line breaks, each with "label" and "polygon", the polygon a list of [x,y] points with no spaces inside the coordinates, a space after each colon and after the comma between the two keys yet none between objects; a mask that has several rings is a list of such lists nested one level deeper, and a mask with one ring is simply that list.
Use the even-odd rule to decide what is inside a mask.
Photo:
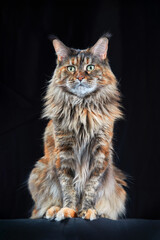
[{"label": "plain black backdrop behind the sitting cat", "polygon": [[126,217],[160,218],[159,20],[158,1],[1,3],[0,218],[30,215],[26,182],[43,155],[42,98],[56,60],[48,35],[84,49],[108,31],[125,113],[114,146],[129,175]]}]

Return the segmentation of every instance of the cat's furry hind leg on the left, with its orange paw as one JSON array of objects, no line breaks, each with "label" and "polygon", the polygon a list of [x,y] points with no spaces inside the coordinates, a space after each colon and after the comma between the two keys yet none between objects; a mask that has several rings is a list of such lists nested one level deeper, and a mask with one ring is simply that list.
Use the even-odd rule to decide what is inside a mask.
[{"label": "cat's furry hind leg on the left, with its orange paw", "polygon": [[62,207],[61,190],[56,170],[45,157],[36,163],[30,174],[28,186],[35,202],[31,218],[54,218],[53,207],[56,212]]}]

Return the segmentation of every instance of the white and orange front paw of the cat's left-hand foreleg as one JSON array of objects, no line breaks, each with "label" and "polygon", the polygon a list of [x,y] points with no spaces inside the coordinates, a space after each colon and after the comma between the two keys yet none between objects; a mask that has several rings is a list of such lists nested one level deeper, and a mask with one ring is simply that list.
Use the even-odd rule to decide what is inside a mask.
[{"label": "white and orange front paw of the cat's left-hand foreleg", "polygon": [[77,216],[77,213],[72,208],[61,208],[60,211],[57,213],[55,220],[61,221],[65,218],[75,218]]}]

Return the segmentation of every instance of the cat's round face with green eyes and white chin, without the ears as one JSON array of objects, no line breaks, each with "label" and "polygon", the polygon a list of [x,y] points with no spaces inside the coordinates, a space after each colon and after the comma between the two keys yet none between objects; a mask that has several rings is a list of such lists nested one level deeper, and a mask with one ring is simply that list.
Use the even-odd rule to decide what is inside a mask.
[{"label": "cat's round face with green eyes and white chin, without the ears", "polygon": [[61,84],[78,97],[85,97],[101,86],[102,66],[86,52],[68,57],[63,65],[58,67],[58,71]]}]

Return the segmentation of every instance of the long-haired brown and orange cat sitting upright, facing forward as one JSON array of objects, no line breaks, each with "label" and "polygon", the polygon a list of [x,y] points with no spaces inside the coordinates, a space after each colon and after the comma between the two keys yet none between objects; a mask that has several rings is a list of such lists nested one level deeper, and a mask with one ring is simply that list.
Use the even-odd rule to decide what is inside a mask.
[{"label": "long-haired brown and orange cat sitting upright, facing forward", "polygon": [[45,96],[44,156],[28,179],[31,218],[117,219],[125,214],[127,183],[112,157],[114,122],[123,114],[109,35],[85,50],[52,42],[57,66]]}]

